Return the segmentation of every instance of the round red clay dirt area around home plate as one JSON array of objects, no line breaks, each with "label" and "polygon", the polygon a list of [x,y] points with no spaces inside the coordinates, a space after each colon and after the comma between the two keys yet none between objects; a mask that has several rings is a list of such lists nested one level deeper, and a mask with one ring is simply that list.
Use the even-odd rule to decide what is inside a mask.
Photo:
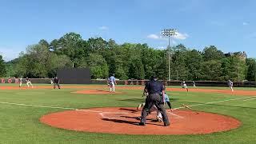
[{"label": "round red clay dirt area around home plate", "polygon": [[168,112],[170,126],[154,122],[155,113],[147,117],[146,126],[138,126],[141,112],[135,108],[110,107],[69,110],[46,114],[40,118],[46,125],[66,130],[109,134],[210,134],[238,128],[235,118],[190,110]]}]

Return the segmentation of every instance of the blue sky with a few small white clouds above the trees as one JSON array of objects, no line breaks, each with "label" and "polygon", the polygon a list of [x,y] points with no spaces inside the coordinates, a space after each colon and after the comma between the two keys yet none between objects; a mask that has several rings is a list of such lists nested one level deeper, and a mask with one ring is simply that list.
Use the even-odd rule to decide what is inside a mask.
[{"label": "blue sky with a few small white clouds above the trees", "polygon": [[40,39],[69,32],[165,49],[161,30],[174,28],[171,46],[214,45],[256,58],[255,6],[254,0],[0,0],[0,54],[7,62]]}]

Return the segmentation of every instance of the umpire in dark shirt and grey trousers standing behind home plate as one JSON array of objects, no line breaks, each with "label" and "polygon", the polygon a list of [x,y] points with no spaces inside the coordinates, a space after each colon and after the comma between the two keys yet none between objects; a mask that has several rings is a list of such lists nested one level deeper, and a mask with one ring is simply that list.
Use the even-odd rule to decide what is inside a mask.
[{"label": "umpire in dark shirt and grey trousers standing behind home plate", "polygon": [[162,94],[165,94],[165,90],[162,82],[158,82],[158,78],[156,76],[152,76],[150,78],[150,82],[146,83],[145,90],[149,95],[147,96],[146,104],[142,109],[142,118],[139,126],[146,125],[146,116],[150,114],[150,109],[152,106],[156,106],[162,114],[164,126],[170,126],[166,109],[164,108],[164,98]]}]

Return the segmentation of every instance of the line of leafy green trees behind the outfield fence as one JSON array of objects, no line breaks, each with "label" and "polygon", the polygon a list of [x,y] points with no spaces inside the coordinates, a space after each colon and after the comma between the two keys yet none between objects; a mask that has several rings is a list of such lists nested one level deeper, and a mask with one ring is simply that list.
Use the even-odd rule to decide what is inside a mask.
[{"label": "line of leafy green trees behind the outfield fence", "polygon": [[[115,74],[120,79],[148,79],[152,74],[168,79],[169,50],[147,44],[123,43],[113,39],[82,39],[68,33],[61,38],[26,47],[18,58],[4,62],[0,55],[0,77],[53,78],[60,68],[89,68],[92,78]],[[224,54],[216,46],[202,51],[182,44],[170,47],[171,80],[256,81],[256,60],[244,52]]]}]

